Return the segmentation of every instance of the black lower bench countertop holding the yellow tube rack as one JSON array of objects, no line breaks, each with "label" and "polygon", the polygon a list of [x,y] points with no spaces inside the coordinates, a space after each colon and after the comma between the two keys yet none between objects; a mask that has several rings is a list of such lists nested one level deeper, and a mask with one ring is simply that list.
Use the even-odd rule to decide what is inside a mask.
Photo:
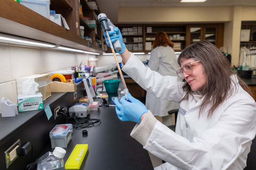
[{"label": "black lower bench countertop holding the yellow tube rack", "polygon": [[[108,101],[109,104],[111,101]],[[116,116],[115,107],[99,107],[98,111],[90,111],[86,118],[99,118],[100,122],[83,129],[88,130],[83,135],[83,129],[73,127],[72,139],[64,156],[64,163],[73,151],[76,144],[88,144],[88,151],[84,157],[80,170],[150,170],[154,169],[148,151],[130,136],[135,122],[122,122]],[[68,121],[73,126],[76,122]],[[53,151],[51,144],[45,152]]]}]

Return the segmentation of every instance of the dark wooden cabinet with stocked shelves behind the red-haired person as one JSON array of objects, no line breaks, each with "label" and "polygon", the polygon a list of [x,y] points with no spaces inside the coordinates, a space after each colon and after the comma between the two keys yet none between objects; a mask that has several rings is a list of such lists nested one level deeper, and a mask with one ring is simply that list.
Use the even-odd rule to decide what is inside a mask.
[{"label": "dark wooden cabinet with stocked shelves behind the red-haired person", "polygon": [[[180,52],[195,41],[206,40],[218,48],[223,46],[224,24],[147,24],[117,25],[132,52],[150,52],[158,31],[164,31],[174,43],[174,51]],[[142,33],[136,33],[142,27]],[[135,28],[135,31],[133,31]],[[130,30],[130,31],[129,31]],[[142,40],[143,41],[140,41]],[[139,42],[137,42],[139,39]],[[137,48],[143,46],[142,48]],[[135,47],[135,48],[134,48]]]}]

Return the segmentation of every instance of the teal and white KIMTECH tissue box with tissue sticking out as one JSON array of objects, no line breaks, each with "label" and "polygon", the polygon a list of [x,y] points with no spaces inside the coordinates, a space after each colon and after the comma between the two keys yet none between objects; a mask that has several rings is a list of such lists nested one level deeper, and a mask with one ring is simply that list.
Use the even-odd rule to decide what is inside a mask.
[{"label": "teal and white KIMTECH tissue box with tissue sticking out", "polygon": [[43,95],[38,92],[33,95],[18,95],[19,112],[44,109]]}]

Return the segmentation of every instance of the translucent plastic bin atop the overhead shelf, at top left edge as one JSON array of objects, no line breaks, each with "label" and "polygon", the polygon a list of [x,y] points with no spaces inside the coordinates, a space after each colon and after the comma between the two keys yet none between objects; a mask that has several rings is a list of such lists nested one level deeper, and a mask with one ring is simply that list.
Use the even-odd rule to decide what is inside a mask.
[{"label": "translucent plastic bin atop the overhead shelf, at top left edge", "polygon": [[50,19],[50,0],[22,0],[20,4]]}]

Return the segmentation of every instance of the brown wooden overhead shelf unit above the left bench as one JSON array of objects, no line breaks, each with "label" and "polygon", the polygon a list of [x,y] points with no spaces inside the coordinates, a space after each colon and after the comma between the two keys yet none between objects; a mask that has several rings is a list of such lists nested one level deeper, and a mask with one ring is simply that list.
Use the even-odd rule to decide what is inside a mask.
[{"label": "brown wooden overhead shelf unit above the left bench", "polygon": [[[86,1],[81,0],[84,9],[94,14],[100,11],[90,10]],[[78,0],[55,0],[51,1],[50,10],[60,13],[66,20],[70,30],[55,24],[50,19],[30,10],[15,1],[0,0],[0,32],[28,39],[49,42],[70,48],[82,49],[91,52],[103,52],[100,46],[96,46],[97,35],[95,29],[87,28],[85,35],[92,38],[89,41],[80,38],[80,17]],[[83,25],[84,23],[81,23]],[[100,27],[100,26],[98,26]],[[99,32],[102,33],[102,32]],[[99,36],[101,37],[101,35]]]}]

